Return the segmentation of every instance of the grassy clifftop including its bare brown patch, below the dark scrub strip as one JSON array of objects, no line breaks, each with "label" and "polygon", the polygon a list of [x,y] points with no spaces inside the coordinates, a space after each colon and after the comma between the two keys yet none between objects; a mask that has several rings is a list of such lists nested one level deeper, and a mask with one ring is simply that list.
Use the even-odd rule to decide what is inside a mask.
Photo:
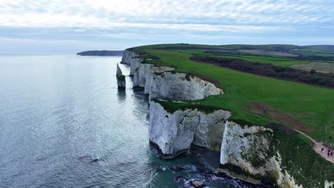
[{"label": "grassy clifftop including its bare brown patch, below the dark scrub strip", "polygon": [[[228,68],[198,63],[189,58],[193,53],[203,54],[208,50],[233,53],[241,49],[236,46],[206,46],[164,44],[140,46],[131,50],[141,52],[141,56],[156,56],[148,63],[157,63],[163,66],[173,66],[177,72],[203,75],[217,80],[217,86],[224,90],[223,95],[211,96],[196,101],[197,105],[213,106],[231,110],[234,119],[246,120],[260,125],[268,121],[283,122],[285,125],[296,127],[298,130],[314,137],[316,140],[326,140],[328,135],[334,135],[334,90],[320,88],[314,85],[295,83],[260,75],[233,71]],[[273,49],[273,46],[265,46]],[[298,46],[278,46],[281,51],[307,50]],[[247,46],[247,48],[251,48]],[[260,48],[258,46],[254,48]],[[262,48],[260,48],[262,49]],[[263,48],[265,51],[265,48]],[[244,52],[243,52],[244,53]],[[210,56],[215,56],[213,53]],[[249,58],[250,54],[238,55]],[[290,57],[256,56],[258,61],[265,63],[286,65]],[[282,61],[286,58],[286,61]],[[276,60],[276,61],[275,61]],[[295,61],[295,60],[293,60]],[[308,63],[308,60],[298,60],[295,63]],[[334,79],[334,78],[333,78]],[[176,108],[180,104],[168,104]],[[265,113],[264,113],[265,112]]]}]

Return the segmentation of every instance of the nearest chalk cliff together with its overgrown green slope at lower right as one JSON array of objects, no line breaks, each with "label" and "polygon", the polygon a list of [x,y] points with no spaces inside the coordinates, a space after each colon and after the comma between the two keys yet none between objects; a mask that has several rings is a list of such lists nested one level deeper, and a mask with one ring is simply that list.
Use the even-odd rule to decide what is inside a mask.
[{"label": "nearest chalk cliff together with its overgrown green slope at lower right", "polygon": [[261,179],[272,187],[334,187],[333,176],[318,176],[318,173],[323,173],[318,172],[321,170],[318,159],[309,158],[308,154],[300,155],[305,150],[313,152],[310,145],[298,144],[298,138],[291,140],[295,136],[279,131],[226,122],[221,164],[237,167],[249,177]]}]

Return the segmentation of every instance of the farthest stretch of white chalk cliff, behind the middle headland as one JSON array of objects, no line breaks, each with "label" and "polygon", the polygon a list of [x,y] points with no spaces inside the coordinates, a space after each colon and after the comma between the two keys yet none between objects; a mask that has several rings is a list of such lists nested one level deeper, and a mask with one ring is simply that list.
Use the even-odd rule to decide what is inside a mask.
[{"label": "farthest stretch of white chalk cliff, behind the middle headland", "polygon": [[133,86],[144,88],[150,98],[198,100],[219,95],[223,90],[213,83],[186,73],[173,73],[174,68],[146,63],[139,53],[124,51],[121,63],[131,66]]}]

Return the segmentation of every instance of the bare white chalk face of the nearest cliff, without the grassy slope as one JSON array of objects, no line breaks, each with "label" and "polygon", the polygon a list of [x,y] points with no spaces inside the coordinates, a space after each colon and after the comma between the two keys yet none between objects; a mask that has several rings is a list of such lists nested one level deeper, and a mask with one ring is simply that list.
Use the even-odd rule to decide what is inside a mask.
[{"label": "bare white chalk face of the nearest cliff, without the grassy slope", "polygon": [[273,148],[273,130],[263,126],[226,122],[221,144],[221,164],[240,167],[253,177],[272,179],[276,187],[300,187],[281,167]]}]

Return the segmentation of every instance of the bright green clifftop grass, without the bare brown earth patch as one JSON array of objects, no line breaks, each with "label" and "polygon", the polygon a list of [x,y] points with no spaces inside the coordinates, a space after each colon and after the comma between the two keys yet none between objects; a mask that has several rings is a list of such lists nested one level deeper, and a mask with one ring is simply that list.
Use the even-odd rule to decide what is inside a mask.
[{"label": "bright green clifftop grass, without the bare brown earth patch", "polygon": [[[203,51],[156,49],[166,46],[171,45],[141,46],[135,50],[160,57],[160,59],[149,61],[149,63],[173,66],[176,67],[177,72],[200,74],[218,80],[221,83],[218,87],[222,88],[225,94],[197,101],[200,105],[230,110],[233,113],[232,119],[246,120],[259,125],[264,125],[268,121],[280,121],[270,115],[254,114],[246,110],[250,108],[250,103],[265,103],[312,128],[312,132],[305,133],[315,138],[315,140],[326,140],[328,135],[334,135],[333,89],[242,73],[188,59],[192,56],[192,53],[203,53]],[[212,48],[213,46],[205,47]],[[228,48],[231,48],[231,46]],[[225,57],[233,58],[233,56]],[[274,61],[278,63],[283,59],[281,57],[263,56],[244,56],[241,58],[248,61],[253,59],[256,62],[273,63],[274,65]],[[290,60],[286,61],[284,66],[288,66],[289,63],[292,62]],[[166,103],[165,105],[175,109],[185,104]]]}]

